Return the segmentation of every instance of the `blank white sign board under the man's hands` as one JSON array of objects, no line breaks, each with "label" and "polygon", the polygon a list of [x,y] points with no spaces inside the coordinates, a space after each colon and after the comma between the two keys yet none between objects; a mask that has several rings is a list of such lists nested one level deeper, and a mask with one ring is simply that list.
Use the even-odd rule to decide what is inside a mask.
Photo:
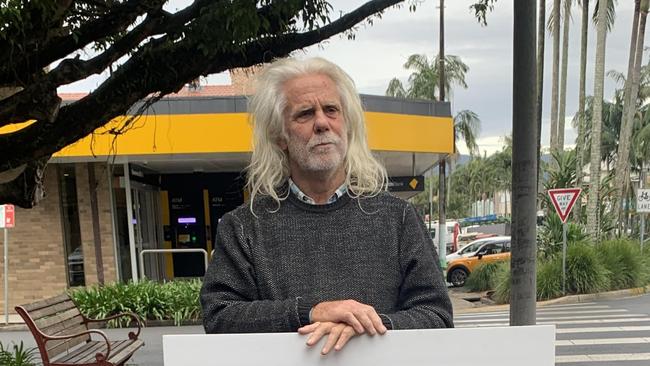
[{"label": "blank white sign board under the man's hands", "polygon": [[553,366],[555,326],[388,331],[322,356],[297,333],[163,335],[165,366]]}]

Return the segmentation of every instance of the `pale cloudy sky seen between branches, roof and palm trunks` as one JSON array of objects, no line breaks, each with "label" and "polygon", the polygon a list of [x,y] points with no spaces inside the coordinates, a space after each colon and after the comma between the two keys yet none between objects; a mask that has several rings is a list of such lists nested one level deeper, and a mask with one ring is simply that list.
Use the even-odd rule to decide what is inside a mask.
[{"label": "pale cloudy sky seen between branches, roof and palm trunks", "polygon": [[[184,1],[176,0],[171,7],[182,7]],[[363,3],[360,0],[331,1],[338,10],[350,10]],[[357,83],[362,93],[383,95],[393,77],[406,81],[409,71],[403,68],[407,57],[414,53],[432,57],[438,53],[438,0],[418,2],[415,12],[407,6],[386,11],[373,26],[359,29],[356,39],[334,37],[319,46],[296,53],[297,57],[322,56],[339,64]],[[452,95],[452,109],[470,109],[481,118],[479,145],[481,151],[500,149],[502,136],[512,130],[512,1],[500,0],[488,16],[488,25],[477,23],[469,10],[472,0],[448,0],[445,6],[445,52],[457,55],[470,67],[467,75],[468,89],[457,88]],[[547,1],[547,4],[551,3]],[[592,3],[595,3],[593,1]],[[592,5],[593,7],[593,5]],[[171,10],[171,9],[170,9]],[[633,1],[619,1],[614,29],[607,38],[605,70],[625,72],[629,52],[629,39],[633,15]],[[547,10],[547,16],[550,8]],[[336,15],[333,16],[336,18]],[[569,71],[567,78],[567,131],[568,145],[575,133],[570,120],[578,104],[578,68],[580,58],[580,9],[574,6],[570,28]],[[595,56],[595,28],[590,27],[589,63],[587,65],[587,94],[593,94]],[[646,37],[647,38],[647,37]],[[546,65],[544,85],[544,113],[542,143],[548,144],[550,124],[552,40],[546,37]],[[84,82],[71,84],[61,91],[92,90],[101,81],[98,76]],[[228,83],[228,77],[217,75],[208,78],[211,84]],[[605,97],[611,98],[616,85],[607,80]],[[460,145],[460,144],[459,144]],[[463,146],[459,146],[463,150]]]}]

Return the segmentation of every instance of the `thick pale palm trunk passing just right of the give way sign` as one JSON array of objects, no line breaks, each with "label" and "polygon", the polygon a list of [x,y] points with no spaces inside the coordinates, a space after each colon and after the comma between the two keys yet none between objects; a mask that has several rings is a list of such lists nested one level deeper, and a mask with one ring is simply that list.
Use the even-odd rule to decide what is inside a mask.
[{"label": "thick pale palm trunk passing just right of the give way sign", "polygon": [[594,240],[599,238],[600,195],[600,148],[603,125],[603,87],[605,83],[605,45],[607,40],[607,2],[598,4],[598,27],[596,28],[596,66],[594,72],[594,111],[591,127],[591,159],[589,167],[589,199],[587,201],[587,233]]}]

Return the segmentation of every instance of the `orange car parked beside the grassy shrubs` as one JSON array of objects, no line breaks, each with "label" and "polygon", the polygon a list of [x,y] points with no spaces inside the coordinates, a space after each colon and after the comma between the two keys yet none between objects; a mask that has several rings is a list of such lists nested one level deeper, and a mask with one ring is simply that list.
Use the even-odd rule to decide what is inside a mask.
[{"label": "orange car parked beside the grassy shrubs", "polygon": [[481,263],[492,263],[510,260],[510,239],[492,241],[484,244],[472,256],[456,258],[447,263],[447,282],[454,287],[465,285],[467,277]]}]

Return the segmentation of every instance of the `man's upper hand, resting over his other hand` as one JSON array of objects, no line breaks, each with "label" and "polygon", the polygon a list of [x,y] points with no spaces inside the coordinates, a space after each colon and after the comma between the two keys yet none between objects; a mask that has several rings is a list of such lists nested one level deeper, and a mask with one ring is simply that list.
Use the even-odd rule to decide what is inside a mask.
[{"label": "man's upper hand, resting over his other hand", "polygon": [[311,321],[345,323],[352,326],[359,334],[386,333],[386,326],[375,308],[354,300],[321,302],[312,309]]}]

